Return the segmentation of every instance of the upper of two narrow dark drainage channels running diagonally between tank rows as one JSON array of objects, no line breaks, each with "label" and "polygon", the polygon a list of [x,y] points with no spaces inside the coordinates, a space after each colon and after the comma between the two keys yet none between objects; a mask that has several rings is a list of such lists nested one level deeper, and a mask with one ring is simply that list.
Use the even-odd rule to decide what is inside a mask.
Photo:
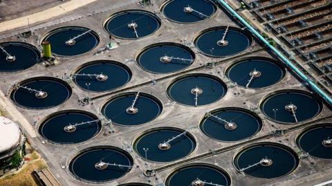
[{"label": "upper of two narrow dark drainage channels running diagonally between tank rows", "polygon": [[128,91],[128,90],[131,90],[131,89],[136,89],[136,88],[138,88],[140,86],[145,86],[145,85],[151,84],[152,82],[160,82],[162,80],[167,80],[169,78],[176,77],[178,75],[183,75],[185,73],[190,73],[190,72],[193,72],[193,71],[199,71],[199,70],[202,70],[203,68],[211,68],[211,67],[214,67],[214,66],[218,66],[218,65],[223,64],[225,62],[229,62],[230,60],[238,59],[239,57],[244,57],[246,55],[251,55],[253,53],[258,53],[258,52],[260,52],[262,50],[265,50],[265,49],[266,49],[265,47],[264,48],[259,48],[257,50],[253,50],[253,51],[248,52],[248,53],[242,53],[240,55],[234,55],[232,57],[228,57],[226,59],[222,59],[222,60],[220,60],[218,62],[212,62],[212,63],[204,64],[204,65],[201,65],[201,66],[197,66],[197,67],[189,69],[187,71],[182,71],[180,73],[175,73],[175,74],[172,74],[172,75],[166,75],[165,77],[160,77],[160,78],[158,78],[156,80],[151,80],[149,82],[143,82],[141,84],[136,84],[134,86],[129,86],[129,87],[124,88],[124,89],[119,89],[118,91],[113,91],[113,92],[105,93],[105,94],[102,94],[102,95],[97,95],[95,97],[91,97],[91,100],[98,100],[98,99],[100,99],[102,97],[107,97],[109,95],[113,95],[113,94],[120,93],[120,92],[123,92],[123,91]]}]

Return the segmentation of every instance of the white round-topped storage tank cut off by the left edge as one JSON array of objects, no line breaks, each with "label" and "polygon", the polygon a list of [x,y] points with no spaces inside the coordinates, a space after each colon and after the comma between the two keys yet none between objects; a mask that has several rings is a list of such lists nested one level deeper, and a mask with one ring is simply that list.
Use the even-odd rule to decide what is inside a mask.
[{"label": "white round-topped storage tank cut off by the left edge", "polygon": [[21,144],[23,135],[15,122],[0,116],[0,160],[15,153]]}]

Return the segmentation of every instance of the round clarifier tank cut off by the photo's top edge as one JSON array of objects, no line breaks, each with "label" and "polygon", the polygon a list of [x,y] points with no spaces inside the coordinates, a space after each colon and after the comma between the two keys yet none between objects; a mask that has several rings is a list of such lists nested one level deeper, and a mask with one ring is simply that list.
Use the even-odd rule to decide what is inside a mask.
[{"label": "round clarifier tank cut off by the photo's top edge", "polygon": [[167,19],[190,24],[210,18],[216,5],[210,0],[170,0],[161,9]]}]

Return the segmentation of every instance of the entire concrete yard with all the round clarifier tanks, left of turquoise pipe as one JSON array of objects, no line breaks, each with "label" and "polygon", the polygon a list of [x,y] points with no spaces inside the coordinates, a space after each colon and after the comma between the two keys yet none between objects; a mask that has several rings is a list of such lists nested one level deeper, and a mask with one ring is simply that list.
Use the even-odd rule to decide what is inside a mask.
[{"label": "entire concrete yard with all the round clarifier tanks, left of turquoise pipe", "polygon": [[224,3],[100,0],[5,32],[1,104],[62,185],[329,180],[329,100]]}]

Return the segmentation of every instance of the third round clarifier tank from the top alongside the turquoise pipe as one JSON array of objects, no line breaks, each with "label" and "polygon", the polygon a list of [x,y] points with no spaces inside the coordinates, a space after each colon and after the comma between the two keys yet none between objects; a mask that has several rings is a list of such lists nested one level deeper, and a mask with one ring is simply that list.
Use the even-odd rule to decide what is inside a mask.
[{"label": "third round clarifier tank from the top alongside the turquoise pipe", "polygon": [[274,59],[250,57],[232,64],[226,76],[247,89],[259,89],[272,86],[284,78],[285,68]]}]

